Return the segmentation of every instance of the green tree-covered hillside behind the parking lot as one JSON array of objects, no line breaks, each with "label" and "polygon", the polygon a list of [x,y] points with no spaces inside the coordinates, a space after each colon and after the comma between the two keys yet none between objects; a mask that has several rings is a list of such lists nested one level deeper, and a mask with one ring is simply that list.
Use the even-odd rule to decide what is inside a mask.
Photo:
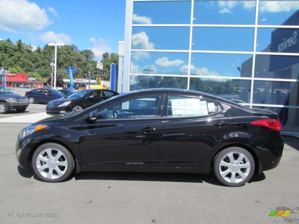
[{"label": "green tree-covered hillside behind the parking lot", "polygon": [[[103,70],[100,72],[102,80],[110,79],[110,64],[118,64],[118,54],[104,53],[101,62]],[[57,77],[68,79],[68,73],[62,73],[68,66],[76,67],[74,78],[86,78],[89,70],[91,77],[97,76],[94,53],[91,50],[78,50],[75,45],[57,47]],[[18,40],[16,43],[0,40],[0,68],[12,73],[27,73],[36,80],[51,77],[51,62],[54,62],[54,47],[45,45],[33,50],[30,44]]]}]

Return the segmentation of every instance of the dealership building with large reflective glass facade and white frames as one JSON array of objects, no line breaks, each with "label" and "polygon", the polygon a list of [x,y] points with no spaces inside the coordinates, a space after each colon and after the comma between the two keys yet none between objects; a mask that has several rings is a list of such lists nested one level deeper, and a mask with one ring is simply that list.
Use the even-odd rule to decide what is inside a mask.
[{"label": "dealership building with large reflective glass facade and white frames", "polygon": [[299,1],[126,0],[117,91],[208,91],[299,134]]}]

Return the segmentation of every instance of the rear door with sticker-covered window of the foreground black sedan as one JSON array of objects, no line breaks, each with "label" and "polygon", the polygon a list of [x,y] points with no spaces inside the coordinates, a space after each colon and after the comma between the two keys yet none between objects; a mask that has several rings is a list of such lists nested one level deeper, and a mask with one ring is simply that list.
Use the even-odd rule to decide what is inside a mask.
[{"label": "rear door with sticker-covered window of the foreground black sedan", "polygon": [[159,166],[199,166],[232,128],[219,103],[196,96],[167,96],[159,138]]}]

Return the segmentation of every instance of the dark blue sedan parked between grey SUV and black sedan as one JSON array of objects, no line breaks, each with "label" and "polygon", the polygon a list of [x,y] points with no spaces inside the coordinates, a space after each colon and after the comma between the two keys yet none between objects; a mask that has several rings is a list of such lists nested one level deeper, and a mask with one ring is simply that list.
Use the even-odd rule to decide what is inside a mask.
[{"label": "dark blue sedan parked between grey SUV and black sedan", "polygon": [[30,90],[25,93],[25,96],[28,97],[29,103],[48,103],[53,99],[60,99],[62,97],[66,97],[57,90],[44,88]]}]

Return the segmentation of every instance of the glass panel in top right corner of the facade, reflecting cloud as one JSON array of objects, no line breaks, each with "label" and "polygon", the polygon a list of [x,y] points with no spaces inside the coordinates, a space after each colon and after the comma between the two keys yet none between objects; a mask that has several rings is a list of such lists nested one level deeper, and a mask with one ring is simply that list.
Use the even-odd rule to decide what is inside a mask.
[{"label": "glass panel in top right corner of the facade, reflecting cloud", "polygon": [[299,1],[260,0],[259,25],[299,25]]}]

